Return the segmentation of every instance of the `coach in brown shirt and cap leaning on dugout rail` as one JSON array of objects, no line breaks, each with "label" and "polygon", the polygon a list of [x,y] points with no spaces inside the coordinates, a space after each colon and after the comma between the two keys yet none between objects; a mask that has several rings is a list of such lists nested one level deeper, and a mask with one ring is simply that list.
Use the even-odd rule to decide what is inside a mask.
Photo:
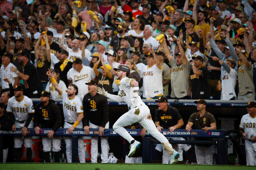
[{"label": "coach in brown shirt and cap leaning on dugout rail", "polygon": [[[204,132],[216,129],[216,121],[214,116],[205,110],[206,101],[199,99],[195,101],[198,112],[193,113],[186,125],[186,130],[190,131],[194,125],[194,129],[203,129]],[[200,138],[196,140],[209,140]],[[213,162],[213,144],[196,144],[195,145],[196,160],[198,164],[212,165]]]}]

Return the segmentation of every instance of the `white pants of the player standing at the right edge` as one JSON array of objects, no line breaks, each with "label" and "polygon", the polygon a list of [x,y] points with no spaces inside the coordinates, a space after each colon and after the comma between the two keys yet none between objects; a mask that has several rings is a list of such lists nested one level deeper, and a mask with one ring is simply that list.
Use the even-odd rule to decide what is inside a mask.
[{"label": "white pants of the player standing at the right edge", "polygon": [[256,142],[245,140],[246,165],[256,165]]}]

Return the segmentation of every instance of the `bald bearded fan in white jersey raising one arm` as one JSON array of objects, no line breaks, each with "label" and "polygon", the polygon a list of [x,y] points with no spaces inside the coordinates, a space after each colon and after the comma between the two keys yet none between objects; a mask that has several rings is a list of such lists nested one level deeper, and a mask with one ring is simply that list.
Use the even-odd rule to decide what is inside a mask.
[{"label": "bald bearded fan in white jersey raising one arm", "polygon": [[80,43],[79,40],[77,39],[72,40],[72,45],[71,45],[72,49],[64,45],[65,35],[68,32],[69,32],[69,29],[64,31],[64,34],[62,35],[62,38],[60,40],[60,48],[63,48],[68,51],[67,59],[70,60],[71,62],[73,62],[75,58],[83,59],[82,51],[79,49],[79,43]]}]

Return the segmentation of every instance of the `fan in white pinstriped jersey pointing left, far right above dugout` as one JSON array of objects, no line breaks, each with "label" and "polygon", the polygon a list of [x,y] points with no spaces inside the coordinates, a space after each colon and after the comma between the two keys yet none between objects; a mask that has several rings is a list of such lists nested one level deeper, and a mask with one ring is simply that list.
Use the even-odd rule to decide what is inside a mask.
[{"label": "fan in white pinstriped jersey pointing left, far right above dugout", "polygon": [[[235,100],[235,86],[236,86],[236,77],[237,72],[234,70],[236,66],[236,61],[232,58],[228,58],[226,63],[220,60],[218,57],[211,56],[213,61],[219,61],[220,65],[224,68],[224,73],[221,77],[221,97],[220,100]],[[223,71],[223,70],[221,70]],[[216,87],[218,90],[220,89],[219,85]]]}]

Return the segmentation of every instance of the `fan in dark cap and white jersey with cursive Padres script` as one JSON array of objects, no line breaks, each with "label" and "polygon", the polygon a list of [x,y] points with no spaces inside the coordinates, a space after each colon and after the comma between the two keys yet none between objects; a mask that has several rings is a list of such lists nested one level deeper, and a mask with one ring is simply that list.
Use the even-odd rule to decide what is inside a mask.
[{"label": "fan in dark cap and white jersey with cursive Padres script", "polygon": [[95,73],[91,67],[84,66],[80,58],[75,58],[73,61],[73,68],[67,73],[69,83],[74,83],[78,87],[77,97],[83,101],[84,95],[88,93],[89,80],[95,78]]}]

